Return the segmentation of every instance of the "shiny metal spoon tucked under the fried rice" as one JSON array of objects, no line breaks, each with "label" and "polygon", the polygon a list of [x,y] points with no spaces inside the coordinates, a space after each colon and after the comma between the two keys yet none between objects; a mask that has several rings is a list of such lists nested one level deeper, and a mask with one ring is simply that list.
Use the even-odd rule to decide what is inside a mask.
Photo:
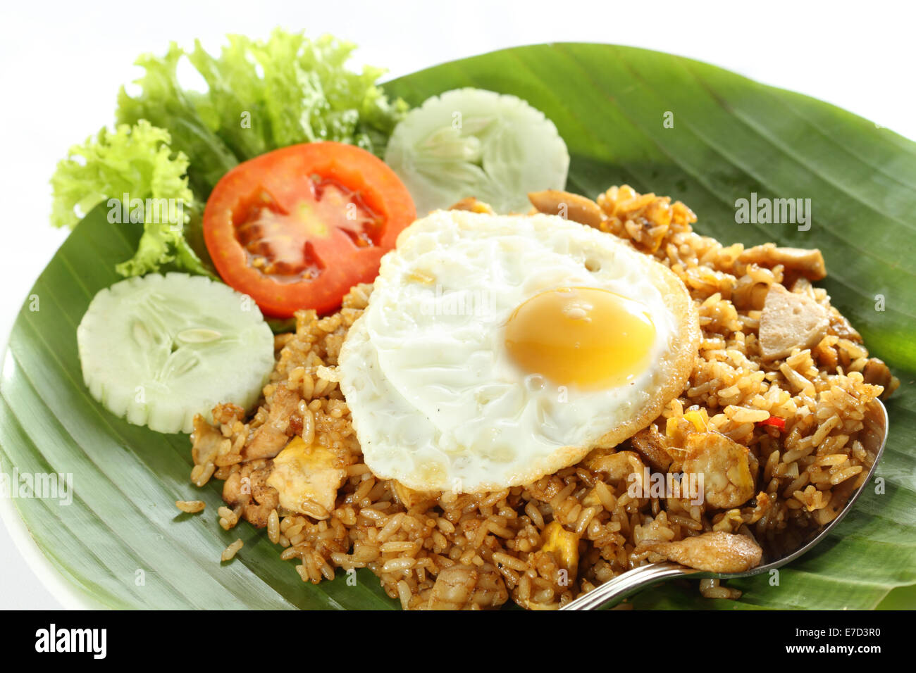
[{"label": "shiny metal spoon tucked under the fried rice", "polygon": [[840,523],[846,513],[852,508],[853,503],[856,502],[856,498],[862,493],[862,490],[868,483],[871,483],[872,475],[875,473],[875,468],[878,466],[878,461],[881,459],[881,454],[884,452],[884,445],[888,441],[888,411],[880,401],[875,400],[867,407],[864,423],[865,429],[859,435],[859,440],[866,450],[874,452],[875,455],[875,461],[872,463],[865,481],[863,481],[862,485],[856,489],[856,492],[849,497],[843,511],[841,511],[833,521],[823,526],[817,535],[808,540],[802,547],[791,552],[791,554],[786,554],[779,559],[770,561],[766,565],[758,566],[753,570],[747,570],[747,572],[716,573],[686,568],[685,566],[668,561],[663,563],[649,563],[648,565],[639,566],[633,570],[627,570],[627,572],[624,572],[613,580],[606,581],[591,592],[584,593],[574,601],[567,603],[561,610],[597,610],[611,607],[627,598],[627,596],[632,596],[634,593],[652,584],[671,580],[671,578],[675,577],[697,580],[730,580],[736,577],[750,577],[751,575],[759,575],[762,572],[769,572],[769,570],[781,568],[791,560],[798,559],[802,554],[808,552],[823,540],[824,537],[827,537],[831,529]]}]

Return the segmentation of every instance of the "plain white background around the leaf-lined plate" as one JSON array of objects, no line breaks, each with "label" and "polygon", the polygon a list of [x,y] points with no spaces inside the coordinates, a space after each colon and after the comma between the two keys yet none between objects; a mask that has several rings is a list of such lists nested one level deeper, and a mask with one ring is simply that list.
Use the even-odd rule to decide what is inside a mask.
[{"label": "plain white background around the leaf-lined plate", "polygon": [[[141,52],[169,40],[218,48],[225,33],[331,32],[396,77],[492,49],[594,41],[669,51],[845,107],[916,138],[910,3],[220,2],[5,3],[0,27],[0,346],[66,232],[48,224],[48,180],[67,148],[113,121]],[[0,608],[78,606],[0,503]],[[40,577],[40,579],[39,579]]]}]

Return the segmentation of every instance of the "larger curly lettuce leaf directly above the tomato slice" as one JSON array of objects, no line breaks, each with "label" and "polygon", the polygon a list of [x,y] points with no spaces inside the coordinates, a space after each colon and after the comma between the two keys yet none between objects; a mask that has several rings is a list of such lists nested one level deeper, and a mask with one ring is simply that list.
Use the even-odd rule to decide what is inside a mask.
[{"label": "larger curly lettuce leaf directly above the tomato slice", "polygon": [[[136,61],[146,71],[136,81],[140,93],[121,90],[117,118],[169,129],[172,147],[191,160],[191,188],[201,200],[237,162],[278,147],[336,140],[381,157],[408,106],[388,101],[376,86],[384,70],[347,69],[354,49],[332,36],[279,28],[267,40],[230,35],[219,56],[200,41],[190,52],[173,43],[164,57]],[[180,84],[182,57],[206,81],[205,92]]]}]

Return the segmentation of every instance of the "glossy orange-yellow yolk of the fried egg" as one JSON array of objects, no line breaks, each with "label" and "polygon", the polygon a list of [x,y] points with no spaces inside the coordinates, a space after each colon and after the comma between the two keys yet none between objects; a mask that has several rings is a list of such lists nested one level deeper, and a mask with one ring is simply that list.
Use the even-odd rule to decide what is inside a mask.
[{"label": "glossy orange-yellow yolk of the fried egg", "polygon": [[622,385],[641,372],[655,342],[645,305],[600,288],[541,292],[506,325],[511,358],[558,385]]}]

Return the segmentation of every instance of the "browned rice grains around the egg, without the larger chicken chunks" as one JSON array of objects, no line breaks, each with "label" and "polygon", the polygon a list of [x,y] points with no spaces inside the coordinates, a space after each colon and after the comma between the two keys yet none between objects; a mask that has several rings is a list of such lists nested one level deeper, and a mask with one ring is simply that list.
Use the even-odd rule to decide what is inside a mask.
[{"label": "browned rice grains around the egg, without the larger chicken chunks", "polygon": [[[270,507],[260,519],[267,537],[283,548],[281,558],[298,561],[303,581],[332,579],[335,568],[368,568],[406,609],[438,603],[457,607],[461,602],[449,605],[442,586],[460,574],[463,564],[479,570],[480,586],[489,582],[492,587],[475,597],[476,607],[505,600],[507,591],[524,607],[554,609],[658,559],[638,548],[647,540],[725,530],[751,535],[765,548],[797,545],[812,526],[836,516],[874,460],[857,435],[863,429],[862,407],[881,388],[864,382],[868,353],[857,332],[831,307],[822,288],[802,279],[795,289],[830,312],[831,333],[813,349],[764,363],[757,338],[761,302],[770,284],[791,281],[783,266],[743,264],[741,244],[724,246],[693,233],[696,218],[680,201],[623,186],[601,195],[598,204],[608,218],[602,228],[669,266],[700,312],[699,356],[683,394],[657,420],[660,430],[670,418],[704,409],[710,426],[747,446],[756,461],[757,488],[768,497],[752,502],[755,506],[707,511],[686,500],[632,498],[624,480],[589,469],[596,455],[613,450],[596,450],[581,463],[526,486],[418,496],[410,506],[402,505],[396,484],[376,479],[361,461],[349,410],[328,379],[347,329],[365,308],[368,285],[355,287],[333,315],[297,314],[296,331],[276,338],[277,366],[261,406],[247,422],[232,414],[220,422],[217,414],[213,431],[224,438],[220,455],[195,464],[191,481],[200,486],[211,477],[225,480],[234,472],[269,467],[270,461],[244,463],[239,453],[249,433],[265,423],[274,393],[283,385],[301,399],[288,434],[333,450],[347,474],[333,512],[315,505],[313,514],[330,518]],[[783,431],[758,425],[770,415],[785,419]],[[201,439],[195,435],[194,441]],[[617,449],[627,448],[625,442]],[[242,517],[257,520],[255,512],[221,507],[220,525],[228,529]],[[561,570],[568,559],[542,548],[551,522],[575,536],[578,559],[566,573]],[[223,559],[239,548],[241,540],[224,551]],[[434,592],[436,578],[449,568],[448,581]],[[740,595],[712,580],[703,581],[701,591],[710,597]]]}]

